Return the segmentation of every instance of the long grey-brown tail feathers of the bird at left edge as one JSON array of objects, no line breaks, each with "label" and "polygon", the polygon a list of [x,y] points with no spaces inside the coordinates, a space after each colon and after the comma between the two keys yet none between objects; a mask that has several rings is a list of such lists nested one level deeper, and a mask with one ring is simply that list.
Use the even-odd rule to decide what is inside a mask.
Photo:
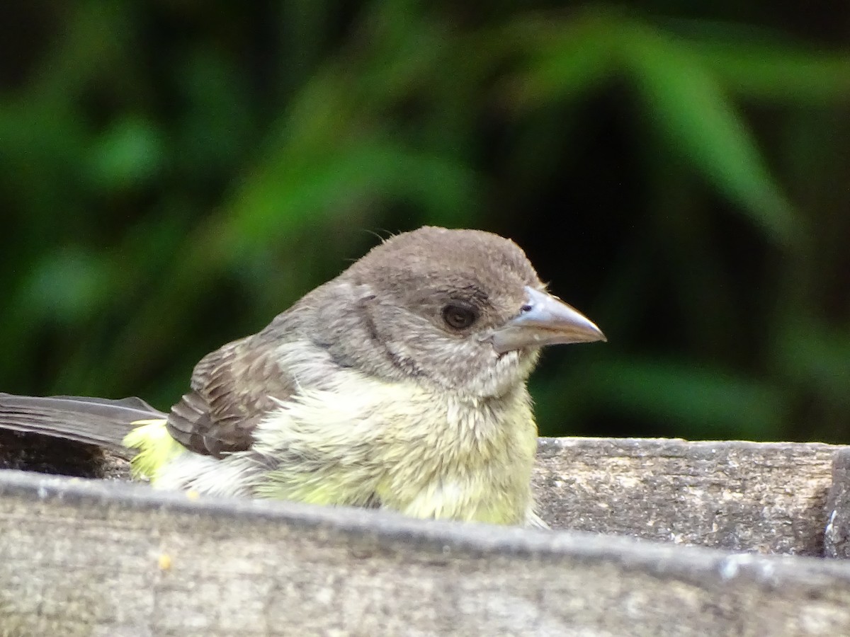
[{"label": "long grey-brown tail feathers of the bird at left edge", "polygon": [[138,420],[166,418],[140,398],[14,396],[0,392],[0,429],[94,444],[127,455],[122,440]]}]

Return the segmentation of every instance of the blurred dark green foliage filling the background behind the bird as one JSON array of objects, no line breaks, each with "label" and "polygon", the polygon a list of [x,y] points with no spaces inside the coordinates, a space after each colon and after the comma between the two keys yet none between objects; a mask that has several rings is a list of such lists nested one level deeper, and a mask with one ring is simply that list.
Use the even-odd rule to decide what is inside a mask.
[{"label": "blurred dark green foliage filling the background behind the bird", "polygon": [[5,9],[3,391],[167,407],[436,223],[609,336],[547,352],[544,433],[850,440],[845,4]]}]

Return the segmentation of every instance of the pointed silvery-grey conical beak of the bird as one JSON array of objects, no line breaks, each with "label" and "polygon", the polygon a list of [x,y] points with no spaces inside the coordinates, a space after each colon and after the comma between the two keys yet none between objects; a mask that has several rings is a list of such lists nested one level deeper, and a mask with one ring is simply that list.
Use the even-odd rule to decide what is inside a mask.
[{"label": "pointed silvery-grey conical beak of the bird", "polygon": [[526,286],[519,314],[490,333],[500,354],[523,347],[607,341],[592,321],[560,299]]}]

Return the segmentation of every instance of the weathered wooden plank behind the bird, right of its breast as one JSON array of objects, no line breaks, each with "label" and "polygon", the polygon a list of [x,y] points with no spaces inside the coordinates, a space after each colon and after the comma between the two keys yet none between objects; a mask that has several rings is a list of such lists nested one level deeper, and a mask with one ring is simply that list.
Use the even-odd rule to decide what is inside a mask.
[{"label": "weathered wooden plank behind the bird, right of its breast", "polygon": [[535,485],[553,528],[727,550],[823,555],[836,447],[541,438]]}]

